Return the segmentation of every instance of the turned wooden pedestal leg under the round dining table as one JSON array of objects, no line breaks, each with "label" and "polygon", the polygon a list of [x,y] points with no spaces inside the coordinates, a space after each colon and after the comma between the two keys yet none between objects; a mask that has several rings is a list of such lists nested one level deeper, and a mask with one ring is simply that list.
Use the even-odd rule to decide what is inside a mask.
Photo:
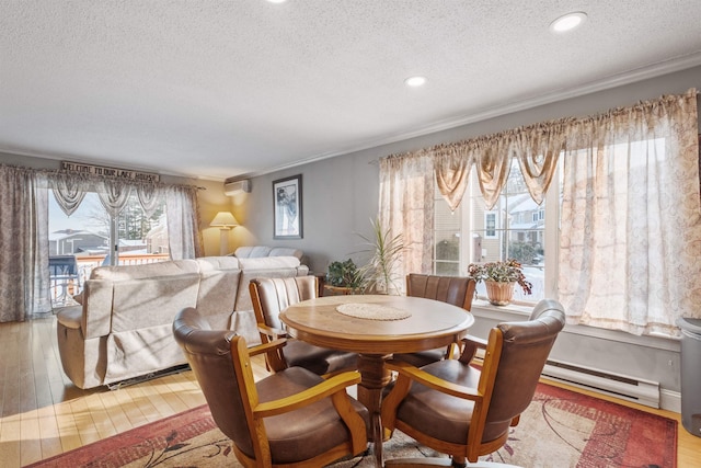
[{"label": "turned wooden pedestal leg under the round dining table", "polygon": [[382,421],[380,420],[380,407],[382,404],[382,389],[390,383],[392,375],[384,366],[391,354],[360,354],[358,356],[358,370],[360,372],[360,385],[358,385],[358,401],[365,404],[370,412],[372,423],[372,442],[375,452],[375,466],[382,467]]}]

